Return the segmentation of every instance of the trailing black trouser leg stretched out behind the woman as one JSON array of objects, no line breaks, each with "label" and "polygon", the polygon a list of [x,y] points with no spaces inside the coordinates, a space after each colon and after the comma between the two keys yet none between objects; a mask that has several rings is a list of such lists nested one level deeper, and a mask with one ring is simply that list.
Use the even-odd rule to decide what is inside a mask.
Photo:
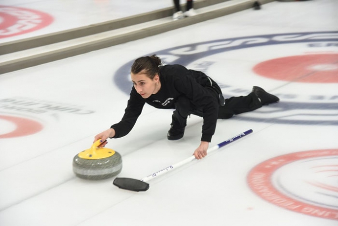
[{"label": "trailing black trouser leg stretched out behind the woman", "polygon": [[254,93],[248,96],[231,97],[225,99],[225,106],[220,106],[218,118],[226,119],[234,114],[251,112],[262,107],[262,103]]}]

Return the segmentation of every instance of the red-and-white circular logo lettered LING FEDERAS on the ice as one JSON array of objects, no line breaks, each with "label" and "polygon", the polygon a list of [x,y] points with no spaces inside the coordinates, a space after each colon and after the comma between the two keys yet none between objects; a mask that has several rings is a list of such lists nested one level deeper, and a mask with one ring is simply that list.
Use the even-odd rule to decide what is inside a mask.
[{"label": "red-and-white circular logo lettered LING FEDERAS on the ice", "polygon": [[[248,175],[249,187],[264,200],[279,207],[326,219],[338,220],[338,205],[335,194],[338,192],[336,162],[338,149],[293,152],[280,155],[255,166]],[[286,180],[278,179],[278,172],[289,167],[296,176],[283,171],[279,175],[286,180],[302,185],[295,188],[299,192],[290,192]],[[321,183],[320,181],[331,182]],[[306,192],[305,192],[306,191]],[[315,197],[320,196],[320,199]],[[324,200],[325,197],[326,199]],[[321,201],[318,201],[321,200]]]}]

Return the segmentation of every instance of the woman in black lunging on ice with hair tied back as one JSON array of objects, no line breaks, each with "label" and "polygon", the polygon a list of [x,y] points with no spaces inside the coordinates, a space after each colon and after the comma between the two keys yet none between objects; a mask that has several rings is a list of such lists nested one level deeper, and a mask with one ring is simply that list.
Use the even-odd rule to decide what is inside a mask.
[{"label": "woman in black lunging on ice with hair tied back", "polygon": [[107,144],[108,138],[127,135],[147,103],[159,109],[175,109],[168,140],[184,136],[189,114],[203,117],[201,143],[194,151],[195,158],[201,159],[207,155],[218,118],[230,118],[279,101],[278,97],[257,86],[248,96],[225,100],[218,84],[204,73],[188,70],[182,65],[162,66],[156,55],[136,59],[130,74],[134,86],[127,108],[119,123],[95,136],[94,142],[100,139],[101,147]]}]

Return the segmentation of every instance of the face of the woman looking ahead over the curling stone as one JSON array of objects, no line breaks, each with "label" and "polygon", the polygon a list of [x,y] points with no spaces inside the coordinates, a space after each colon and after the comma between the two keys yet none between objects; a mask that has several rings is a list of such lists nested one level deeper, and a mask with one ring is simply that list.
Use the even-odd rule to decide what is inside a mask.
[{"label": "face of the woman looking ahead over the curling stone", "polygon": [[153,79],[149,78],[146,74],[142,72],[139,74],[131,73],[131,81],[134,84],[134,87],[138,94],[143,98],[148,98],[151,94],[156,94],[158,92],[158,82],[159,76],[155,75]]}]

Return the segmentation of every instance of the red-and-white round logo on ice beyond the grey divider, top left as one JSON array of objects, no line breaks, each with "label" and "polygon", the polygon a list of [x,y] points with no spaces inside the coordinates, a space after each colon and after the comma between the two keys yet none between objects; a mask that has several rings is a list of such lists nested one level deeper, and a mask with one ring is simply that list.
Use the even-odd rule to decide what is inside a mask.
[{"label": "red-and-white round logo on ice beyond the grey divider, top left", "polygon": [[33,32],[53,22],[53,17],[47,13],[5,5],[0,5],[0,18],[0,38]]}]

